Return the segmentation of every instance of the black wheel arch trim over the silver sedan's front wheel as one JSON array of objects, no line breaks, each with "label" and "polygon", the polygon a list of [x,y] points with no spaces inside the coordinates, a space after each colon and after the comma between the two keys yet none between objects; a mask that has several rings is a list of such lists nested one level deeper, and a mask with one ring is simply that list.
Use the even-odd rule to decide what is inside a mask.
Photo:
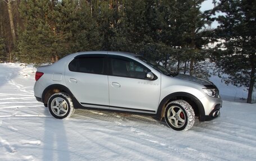
[{"label": "black wheel arch trim over the silver sedan's front wheel", "polygon": [[188,102],[191,107],[193,108],[195,112],[195,116],[198,116],[199,121],[205,121],[205,111],[203,104],[200,102],[198,98],[196,98],[194,95],[189,94],[189,93],[184,93],[184,92],[177,92],[177,93],[172,93],[164,97],[157,110],[157,117],[162,120],[164,118],[164,112],[166,108],[166,104],[177,99],[182,99]]}]

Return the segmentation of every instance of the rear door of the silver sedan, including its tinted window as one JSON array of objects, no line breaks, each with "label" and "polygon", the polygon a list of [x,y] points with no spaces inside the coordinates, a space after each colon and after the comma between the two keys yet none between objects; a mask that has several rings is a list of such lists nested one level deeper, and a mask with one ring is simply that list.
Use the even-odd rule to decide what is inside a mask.
[{"label": "rear door of the silver sedan, including its tinted window", "polygon": [[108,109],[108,76],[105,66],[106,54],[82,54],[67,66],[66,84],[82,105]]}]

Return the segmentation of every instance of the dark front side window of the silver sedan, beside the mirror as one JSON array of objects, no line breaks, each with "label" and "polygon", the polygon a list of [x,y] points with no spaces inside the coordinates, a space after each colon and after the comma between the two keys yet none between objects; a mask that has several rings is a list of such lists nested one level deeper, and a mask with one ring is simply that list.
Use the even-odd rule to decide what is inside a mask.
[{"label": "dark front side window of the silver sedan, beside the mirror", "polygon": [[145,79],[148,68],[132,59],[111,58],[111,70],[113,76]]}]

